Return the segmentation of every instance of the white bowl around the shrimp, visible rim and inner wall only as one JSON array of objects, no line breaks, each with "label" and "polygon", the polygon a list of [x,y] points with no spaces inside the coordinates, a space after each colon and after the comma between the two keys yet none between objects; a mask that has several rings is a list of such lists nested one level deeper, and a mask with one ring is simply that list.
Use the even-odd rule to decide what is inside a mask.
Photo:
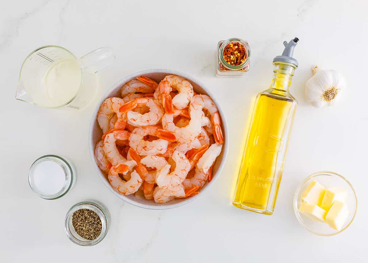
[{"label": "white bowl around the shrimp, visible rim and inner wall only", "polygon": [[[128,81],[130,81],[130,80],[132,80],[132,79],[134,79],[138,76],[144,75],[146,77],[151,78],[152,80],[155,80],[156,82],[159,82],[165,76],[170,75],[170,74],[175,74],[175,75],[182,76],[182,77],[186,78],[193,85],[193,88],[197,93],[206,94],[206,95],[208,95],[209,97],[211,97],[213,99],[213,101],[215,102],[217,108],[219,109],[219,113],[220,113],[220,117],[221,117],[221,122],[222,122],[221,123],[221,128],[222,128],[222,132],[223,132],[223,136],[224,136],[224,144],[223,144],[222,152],[219,155],[219,157],[217,157],[215,165],[213,166],[213,170],[212,170],[213,179],[210,183],[206,182],[206,184],[199,191],[200,192],[199,194],[197,194],[195,196],[192,196],[192,197],[174,199],[174,200],[169,201],[167,203],[159,204],[159,203],[155,203],[153,200],[146,200],[144,197],[135,197],[134,194],[124,196],[124,195],[118,193],[110,185],[109,180],[107,179],[107,175],[105,173],[103,173],[98,168],[98,166],[95,162],[95,158],[94,158],[95,146],[101,140],[101,137],[102,137],[102,130],[100,129],[100,127],[98,125],[98,122],[96,120],[96,116],[97,116],[97,112],[98,112],[99,107],[102,104],[102,102],[106,98],[120,97],[120,88],[125,83],[127,83]],[[89,154],[91,155],[93,166],[95,167],[99,178],[106,185],[106,187],[111,190],[111,192],[116,194],[116,196],[118,196],[120,199],[123,199],[124,201],[127,201],[130,204],[134,204],[135,206],[142,207],[142,208],[148,208],[148,209],[163,210],[163,209],[169,209],[169,208],[183,206],[184,204],[190,203],[191,201],[197,199],[199,196],[203,195],[204,192],[206,192],[209,189],[210,185],[213,185],[213,183],[215,183],[217,177],[219,177],[220,172],[221,172],[221,170],[222,170],[222,168],[225,164],[225,159],[226,159],[226,156],[227,156],[228,145],[229,145],[229,132],[227,131],[227,123],[226,123],[226,118],[225,118],[224,112],[222,111],[219,103],[217,102],[216,97],[209,91],[208,88],[205,87],[204,84],[202,84],[201,82],[199,82],[195,78],[193,78],[193,77],[191,77],[191,76],[189,76],[185,73],[181,73],[181,72],[174,71],[174,70],[167,70],[167,69],[152,69],[152,70],[139,71],[137,73],[131,74],[131,75],[123,78],[122,80],[118,81],[115,85],[113,85],[113,87],[110,88],[110,90],[108,90],[105,93],[105,95],[103,95],[100,102],[96,106],[95,112],[93,112],[91,124],[89,126],[89,138],[88,138],[88,140],[89,140]]]}]

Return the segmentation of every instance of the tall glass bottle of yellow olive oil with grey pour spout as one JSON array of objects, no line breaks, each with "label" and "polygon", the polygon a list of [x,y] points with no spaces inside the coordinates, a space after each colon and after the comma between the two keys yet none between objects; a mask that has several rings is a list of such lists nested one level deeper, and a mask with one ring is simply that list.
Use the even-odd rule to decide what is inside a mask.
[{"label": "tall glass bottle of yellow olive oil with grey pour spout", "polygon": [[298,67],[292,57],[298,41],[284,41],[282,56],[273,59],[271,86],[257,95],[233,200],[236,207],[273,214],[298,104],[289,93]]}]

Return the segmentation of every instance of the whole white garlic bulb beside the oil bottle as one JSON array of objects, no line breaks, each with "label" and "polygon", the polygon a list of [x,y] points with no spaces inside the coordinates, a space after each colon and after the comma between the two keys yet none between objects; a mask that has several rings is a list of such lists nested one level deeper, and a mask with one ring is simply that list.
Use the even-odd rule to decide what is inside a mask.
[{"label": "whole white garlic bulb beside the oil bottle", "polygon": [[345,78],[336,70],[312,68],[314,74],[305,84],[305,98],[312,106],[333,106],[346,87]]}]

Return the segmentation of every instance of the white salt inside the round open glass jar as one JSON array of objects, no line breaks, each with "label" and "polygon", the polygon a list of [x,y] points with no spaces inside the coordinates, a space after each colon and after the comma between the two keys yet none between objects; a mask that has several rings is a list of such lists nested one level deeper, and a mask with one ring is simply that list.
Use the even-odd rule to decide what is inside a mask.
[{"label": "white salt inside the round open glass jar", "polygon": [[63,167],[54,161],[43,161],[36,165],[33,182],[43,195],[60,192],[66,181]]}]

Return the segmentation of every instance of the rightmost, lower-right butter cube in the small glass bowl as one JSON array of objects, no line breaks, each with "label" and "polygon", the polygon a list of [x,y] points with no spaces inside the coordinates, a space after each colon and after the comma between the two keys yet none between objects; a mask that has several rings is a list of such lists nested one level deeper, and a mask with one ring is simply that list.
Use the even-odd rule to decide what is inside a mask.
[{"label": "rightmost, lower-right butter cube in the small glass bowl", "polygon": [[349,210],[347,205],[342,201],[336,200],[326,215],[326,222],[333,229],[340,231],[348,216]]}]

